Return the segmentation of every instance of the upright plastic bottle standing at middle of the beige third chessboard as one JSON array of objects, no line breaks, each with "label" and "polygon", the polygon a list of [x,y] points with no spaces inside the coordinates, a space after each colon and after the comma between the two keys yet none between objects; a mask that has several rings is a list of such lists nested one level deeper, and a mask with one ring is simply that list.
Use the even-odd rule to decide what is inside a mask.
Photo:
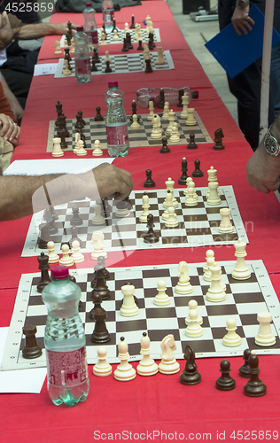
[{"label": "upright plastic bottle standing at middle of the beige third chessboard", "polygon": [[104,98],[107,104],[105,125],[107,149],[111,157],[128,155],[128,121],[123,107],[124,93],[118,88],[118,82],[108,82],[109,89]]}]

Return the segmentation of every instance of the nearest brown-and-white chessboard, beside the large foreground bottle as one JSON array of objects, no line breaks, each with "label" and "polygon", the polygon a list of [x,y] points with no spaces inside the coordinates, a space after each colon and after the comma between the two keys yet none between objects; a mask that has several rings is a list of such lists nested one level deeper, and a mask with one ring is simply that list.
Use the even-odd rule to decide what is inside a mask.
[{"label": "nearest brown-and-white chessboard, beside the large foreground bottle", "polygon": [[[108,268],[110,276],[106,284],[111,291],[111,297],[102,302],[102,307],[107,312],[106,327],[111,334],[110,342],[105,344],[109,362],[120,362],[117,358],[117,345],[121,337],[128,342],[129,360],[141,360],[140,339],[144,331],[151,339],[154,359],[160,359],[160,342],[167,334],[174,335],[177,346],[175,358],[177,359],[183,358],[186,344],[191,344],[196,357],[221,358],[242,355],[246,348],[256,349],[257,354],[280,354],[280,305],[262,260],[246,261],[252,273],[247,280],[232,278],[231,272],[236,261],[218,262],[222,267],[222,283],[226,284],[227,293],[227,298],[219,303],[206,300],[209,283],[203,278],[204,264],[189,263],[190,283],[193,288],[189,295],[180,295],[175,292],[174,288],[178,282],[178,265]],[[74,275],[76,283],[82,290],[80,316],[86,334],[88,362],[89,364],[96,363],[98,345],[91,342],[94,322],[89,318],[89,311],[93,307],[90,284],[93,271],[92,269],[75,269],[71,271],[71,274]],[[47,309],[43,305],[41,294],[36,290],[39,280],[39,273],[21,276],[4,350],[2,370],[36,368],[46,365],[43,334]],[[170,304],[167,307],[158,307],[153,303],[159,280],[164,280],[167,284],[167,294],[170,297]],[[121,286],[127,282],[136,288],[139,313],[134,317],[124,317],[120,313],[123,298]],[[185,335],[185,317],[188,315],[188,303],[191,299],[198,302],[198,315],[201,315],[203,319],[203,335],[200,338],[189,338]],[[257,315],[261,312],[272,314],[271,329],[276,336],[274,346],[262,347],[254,342],[259,330]],[[227,347],[222,344],[222,338],[227,333],[226,323],[229,318],[236,320],[237,334],[241,337],[240,346]],[[37,328],[37,342],[43,349],[43,354],[39,358],[26,360],[22,357],[22,349],[25,346],[25,338],[22,335],[24,324],[32,324]]]}]

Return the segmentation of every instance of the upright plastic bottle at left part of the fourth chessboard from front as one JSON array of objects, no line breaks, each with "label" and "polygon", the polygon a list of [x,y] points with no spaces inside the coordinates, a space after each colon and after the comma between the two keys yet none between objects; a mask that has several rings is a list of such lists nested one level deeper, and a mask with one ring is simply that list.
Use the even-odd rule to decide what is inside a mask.
[{"label": "upright plastic bottle at left part of the fourth chessboard from front", "polygon": [[74,64],[75,77],[78,83],[89,83],[91,80],[88,35],[83,32],[83,27],[77,27],[74,35]]}]

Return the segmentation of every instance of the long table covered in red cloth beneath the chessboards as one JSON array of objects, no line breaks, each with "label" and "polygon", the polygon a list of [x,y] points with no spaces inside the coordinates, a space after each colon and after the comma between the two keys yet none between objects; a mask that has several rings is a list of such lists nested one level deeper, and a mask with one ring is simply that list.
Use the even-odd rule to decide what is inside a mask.
[{"label": "long table covered in red cloth beneath the chessboards", "polygon": [[[157,188],[164,188],[168,176],[175,180],[175,187],[181,175],[181,161],[188,160],[189,173],[194,169],[194,159],[201,160],[204,177],[196,180],[197,186],[207,186],[207,169],[214,166],[218,170],[221,185],[232,185],[237,204],[247,226],[249,245],[246,248],[248,259],[264,261],[276,293],[280,293],[278,267],[278,229],[279,205],[274,194],[263,195],[250,188],[245,178],[245,165],[252,152],[236,123],[229,115],[222,100],[208,81],[198,61],[184,42],[183,36],[175,25],[175,20],[165,2],[143,2],[142,6],[123,8],[116,13],[117,24],[130,20],[131,14],[140,21],[148,13],[153,26],[159,27],[165,49],[171,50],[175,70],[165,73],[122,74],[94,77],[89,84],[80,85],[75,79],[54,79],[52,76],[35,77],[32,82],[27,107],[22,122],[20,144],[13,159],[49,159],[46,152],[49,120],[55,120],[55,104],[61,101],[67,118],[74,118],[82,109],[85,117],[92,116],[97,105],[105,110],[103,94],[108,80],[118,80],[124,90],[125,108],[131,112],[131,101],[136,98],[136,89],[152,86],[180,88],[189,86],[199,90],[199,98],[193,102],[209,134],[214,138],[214,130],[222,128],[222,152],[215,152],[213,144],[198,146],[192,152],[185,146],[171,146],[171,152],[163,155],[158,147],[131,149],[128,157],[115,159],[114,164],[131,172],[136,190],[144,190],[144,171],[152,169],[152,178]],[[138,19],[140,17],[140,19]],[[82,14],[55,14],[53,22],[67,21],[82,24]],[[97,24],[101,25],[101,15],[97,14]],[[40,51],[39,62],[53,62],[54,42],[57,37],[46,37]],[[118,48],[119,47],[119,48]],[[110,53],[120,51],[120,45],[112,45]],[[164,82],[164,84],[163,84]],[[142,112],[142,111],[141,111]],[[143,108],[143,113],[147,113]],[[72,152],[68,158],[74,158]],[[59,160],[61,161],[61,160]],[[79,160],[77,159],[77,162]],[[77,163],[78,164],[78,163]],[[43,163],[42,163],[43,165]],[[37,260],[22,258],[21,251],[27,235],[30,217],[1,224],[2,228],[2,273],[0,289],[0,326],[8,326],[13,303],[16,297],[19,278],[22,273],[36,272]],[[115,254],[113,260],[121,267],[178,263],[180,260],[203,262],[207,247],[191,250],[185,248],[159,251],[137,251],[128,257]],[[234,260],[234,246],[215,247],[216,260]],[[89,254],[85,257],[84,267],[92,267]],[[0,415],[1,442],[29,441],[30,438],[42,442],[56,442],[67,439],[142,439],[144,441],[164,441],[172,439],[254,439],[257,441],[275,439],[279,431],[278,418],[280,407],[278,392],[279,356],[260,356],[261,379],[268,387],[262,398],[253,399],[243,393],[245,379],[237,375],[243,363],[241,357],[230,358],[231,375],[237,380],[237,388],[231,392],[220,392],[215,388],[215,380],[220,376],[220,360],[199,359],[198,370],[202,382],[195,386],[183,386],[179,376],[136,377],[129,383],[118,383],[112,377],[96,378],[89,366],[89,398],[75,408],[55,408],[51,405],[46,383],[38,394],[2,394]],[[133,363],[136,367],[136,363]],[[184,361],[180,361],[183,370]],[[115,368],[115,365],[114,365]],[[15,374],[16,377],[16,374]],[[233,432],[235,431],[235,434]],[[269,431],[270,434],[269,434]],[[131,432],[129,434],[129,432]],[[218,432],[218,435],[217,435]],[[246,433],[247,432],[247,433]],[[115,434],[121,434],[119,435]],[[141,435],[140,435],[141,434]],[[205,435],[204,435],[205,434]],[[206,436],[207,434],[207,436]],[[237,438],[237,439],[238,439]]]}]

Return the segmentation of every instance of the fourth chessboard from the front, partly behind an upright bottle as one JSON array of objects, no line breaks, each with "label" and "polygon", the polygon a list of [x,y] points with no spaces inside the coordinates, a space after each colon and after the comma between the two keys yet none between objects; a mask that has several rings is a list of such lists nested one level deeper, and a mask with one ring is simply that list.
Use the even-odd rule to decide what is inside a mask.
[{"label": "fourth chessboard from the front, partly behind an upright bottle", "polygon": [[[156,59],[158,58],[157,52],[151,52],[151,60],[152,60],[152,69],[154,71],[165,71],[168,69],[175,69],[173,58],[170,51],[163,52],[165,63],[162,65],[156,65]],[[145,63],[143,53],[134,53],[128,54],[127,52],[121,52],[121,54],[110,55],[111,63],[110,67],[112,69],[112,73],[105,73],[105,56],[99,56],[101,63],[96,65],[97,71],[91,72],[91,75],[110,75],[110,74],[131,74],[131,73],[141,73],[145,70]],[[72,58],[70,62],[70,68],[72,69],[71,75],[67,75],[68,77],[74,77],[74,58]],[[63,75],[65,69],[64,58],[59,58],[58,67],[56,70],[56,74],[54,74],[55,79],[63,78],[66,76]]]}]

